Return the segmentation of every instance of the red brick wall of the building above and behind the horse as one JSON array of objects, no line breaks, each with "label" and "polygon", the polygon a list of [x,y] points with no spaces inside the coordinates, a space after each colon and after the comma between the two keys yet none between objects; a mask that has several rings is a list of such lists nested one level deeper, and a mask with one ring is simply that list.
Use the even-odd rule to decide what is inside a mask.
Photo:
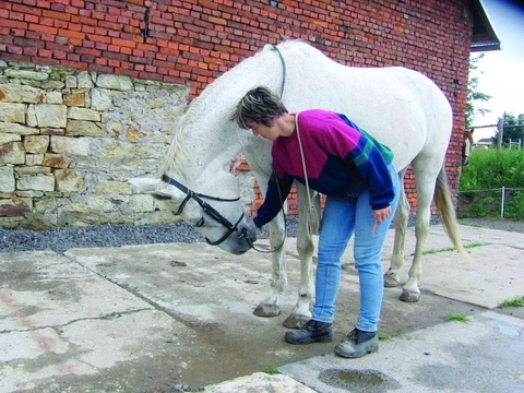
[{"label": "red brick wall of the building above and behind the horse", "polygon": [[[453,107],[446,168],[456,192],[473,32],[467,2],[0,0],[0,59],[187,84],[193,97],[283,37],[308,40],[347,66],[408,67],[431,78]],[[412,172],[406,189],[415,207]]]}]

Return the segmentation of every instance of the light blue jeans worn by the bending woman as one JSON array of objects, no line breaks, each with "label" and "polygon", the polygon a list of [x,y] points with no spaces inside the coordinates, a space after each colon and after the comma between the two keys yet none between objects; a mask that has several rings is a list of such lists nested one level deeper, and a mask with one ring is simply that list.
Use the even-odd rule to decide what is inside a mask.
[{"label": "light blue jeans worn by the bending woman", "polygon": [[327,196],[322,216],[319,238],[315,301],[313,320],[333,323],[335,300],[341,284],[343,255],[355,233],[354,258],[360,283],[360,312],[357,329],[377,332],[384,293],[382,273],[382,246],[398,203],[398,175],[389,166],[395,199],[391,203],[391,215],[371,235],[374,217],[369,204],[367,188],[357,188],[346,195]]}]

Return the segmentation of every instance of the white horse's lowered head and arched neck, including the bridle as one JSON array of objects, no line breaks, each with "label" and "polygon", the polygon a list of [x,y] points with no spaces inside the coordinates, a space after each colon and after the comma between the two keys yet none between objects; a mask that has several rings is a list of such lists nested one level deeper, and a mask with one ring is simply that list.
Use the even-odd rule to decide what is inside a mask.
[{"label": "white horse's lowered head and arched neck, including the bridle", "polygon": [[[261,64],[269,63],[262,67]],[[210,84],[181,117],[159,179],[131,179],[139,192],[165,200],[169,210],[203,235],[210,245],[234,254],[248,251],[257,240],[239,199],[238,178],[230,163],[257,144],[251,132],[240,130],[230,116],[240,98],[253,86],[281,87],[278,56],[265,48]],[[265,71],[264,71],[265,70]],[[245,75],[251,75],[246,79]],[[257,80],[254,80],[257,75]],[[271,144],[255,160],[264,162],[271,174]],[[248,148],[249,150],[249,148]]]}]

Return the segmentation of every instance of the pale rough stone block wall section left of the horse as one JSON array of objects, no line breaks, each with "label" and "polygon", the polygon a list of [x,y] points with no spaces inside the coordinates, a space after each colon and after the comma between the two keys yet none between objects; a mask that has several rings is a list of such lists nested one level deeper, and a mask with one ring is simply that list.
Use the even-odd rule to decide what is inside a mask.
[{"label": "pale rough stone block wall section left of the horse", "polygon": [[183,85],[0,60],[0,227],[177,218],[127,180],[155,176]]}]

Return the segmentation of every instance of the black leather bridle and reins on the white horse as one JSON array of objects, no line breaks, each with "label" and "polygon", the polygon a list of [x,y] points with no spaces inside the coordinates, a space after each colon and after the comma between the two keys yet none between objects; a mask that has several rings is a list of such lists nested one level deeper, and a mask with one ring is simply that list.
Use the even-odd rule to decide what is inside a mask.
[{"label": "black leather bridle and reins on the white horse", "polygon": [[[282,62],[283,72],[284,72],[284,76],[283,76],[283,80],[282,80],[282,91],[281,91],[281,98],[282,98],[282,96],[284,94],[284,84],[285,84],[285,81],[286,81],[286,63],[285,63],[284,58],[283,58],[281,51],[278,50],[278,48],[273,45],[272,49],[276,50],[276,52],[278,53],[278,56],[281,58],[281,62]],[[235,224],[231,224],[217,210],[215,210],[212,205],[210,205],[204,200],[202,200],[202,199],[209,199],[209,200],[219,201],[219,202],[237,202],[237,201],[240,200],[240,196],[234,198],[234,199],[225,199],[225,198],[212,196],[212,195],[206,195],[206,194],[203,194],[203,193],[194,192],[193,190],[189,189],[188,187],[183,186],[181,182],[170,178],[167,175],[163,175],[162,180],[165,181],[168,184],[171,184],[171,186],[176,187],[177,189],[179,189],[180,191],[182,191],[186,194],[186,198],[183,199],[182,203],[178,207],[178,211],[175,213],[175,215],[180,215],[182,213],[183,209],[186,207],[186,204],[189,202],[189,200],[192,199],[193,201],[195,201],[200,205],[200,207],[202,207],[202,210],[204,211],[205,214],[207,214],[211,218],[213,218],[214,221],[216,221],[218,224],[221,224],[222,226],[224,226],[227,229],[226,234],[216,241],[211,241],[210,239],[205,238],[205,241],[207,241],[207,243],[210,246],[218,246],[219,243],[224,242],[229,236],[231,236],[231,234],[235,233],[235,231],[239,231],[238,238],[239,239],[241,239],[241,238],[246,239],[248,245],[253,250],[255,250],[258,252],[271,253],[271,252],[278,251],[282,248],[282,246],[284,246],[285,235],[284,235],[284,238],[283,238],[281,245],[274,250],[261,250],[261,249],[257,248],[254,246],[253,241],[249,238],[247,229],[246,228],[242,228],[241,230],[238,229],[238,224],[240,224],[240,222],[245,217],[243,213],[240,215],[240,218],[238,218],[238,221]],[[279,192],[279,190],[278,190],[278,192]],[[281,200],[282,200],[282,195],[281,195]],[[285,217],[284,217],[284,219],[285,219]]]}]

